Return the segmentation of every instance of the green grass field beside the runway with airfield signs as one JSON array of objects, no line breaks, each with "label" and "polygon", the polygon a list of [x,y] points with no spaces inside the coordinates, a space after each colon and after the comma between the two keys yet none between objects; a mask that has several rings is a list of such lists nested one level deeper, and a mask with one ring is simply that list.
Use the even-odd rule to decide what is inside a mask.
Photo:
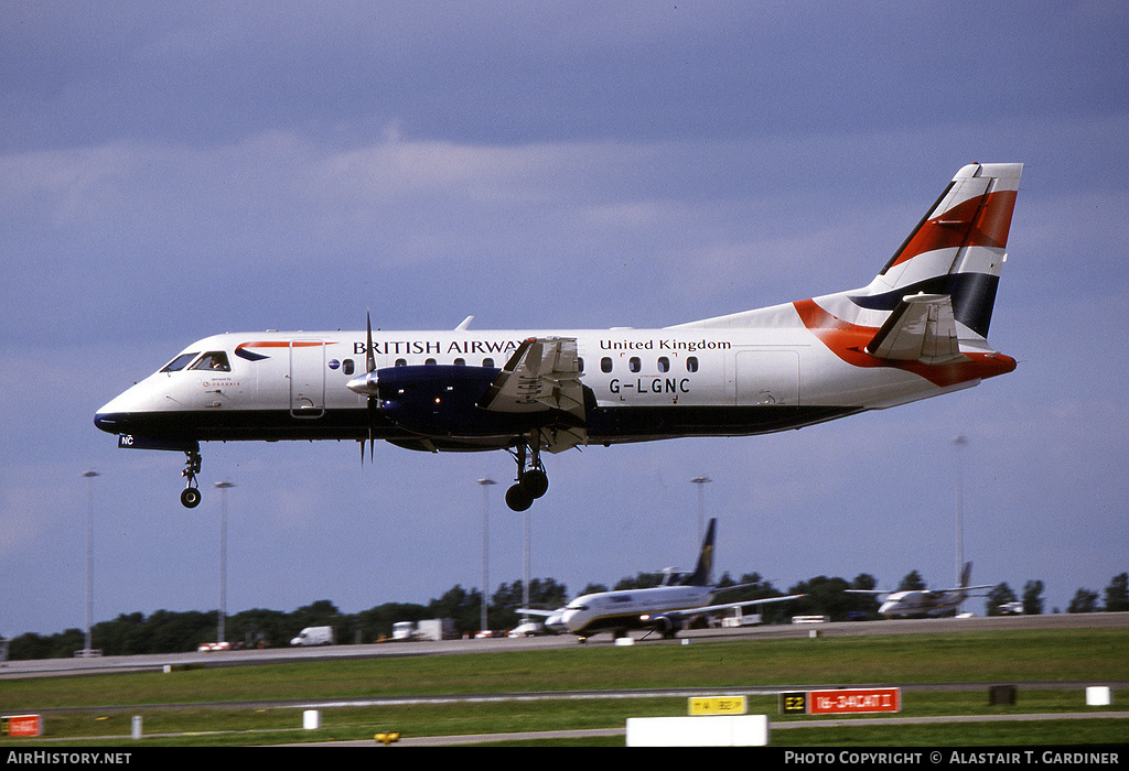
[{"label": "green grass field beside the runway with airfield signs", "polygon": [[[576,691],[662,688],[774,688],[851,684],[963,684],[908,691],[899,717],[1097,711],[1080,685],[1129,681],[1129,629],[962,632],[890,637],[695,641],[692,645],[587,646],[467,655],[382,657],[231,666],[173,673],[100,674],[0,681],[6,715],[42,711],[42,739],[100,746],[245,745],[463,735],[566,728],[622,728],[628,717],[685,715],[684,698],[563,698]],[[1016,704],[989,707],[987,685],[1014,683]],[[297,701],[385,697],[554,692],[539,701],[323,707],[322,728],[301,729]],[[1114,691],[1114,706],[1126,698]],[[272,703],[268,703],[272,702]],[[159,704],[176,704],[167,707]],[[159,706],[159,707],[158,707]],[[1122,707],[1123,708],[1123,707]],[[1126,743],[1129,721],[787,728],[773,695],[751,695],[767,714],[773,745],[972,745]],[[132,716],[145,737],[130,736]],[[841,718],[834,723],[842,723]],[[542,742],[553,744],[553,742]],[[559,742],[558,742],[559,744]],[[569,744],[622,746],[623,737]]]}]

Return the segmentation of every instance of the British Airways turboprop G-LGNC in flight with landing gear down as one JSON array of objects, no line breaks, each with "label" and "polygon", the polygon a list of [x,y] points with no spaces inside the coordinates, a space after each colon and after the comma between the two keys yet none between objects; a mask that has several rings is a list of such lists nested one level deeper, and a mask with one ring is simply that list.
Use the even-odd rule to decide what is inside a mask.
[{"label": "British Airways turboprop G-LGNC in flight with landing gear down", "polygon": [[965,166],[858,290],[662,329],[239,333],[193,343],[98,410],[119,446],[384,440],[507,450],[506,502],[544,495],[541,453],[823,423],[975,386],[1015,360],[987,340],[1021,163]]}]

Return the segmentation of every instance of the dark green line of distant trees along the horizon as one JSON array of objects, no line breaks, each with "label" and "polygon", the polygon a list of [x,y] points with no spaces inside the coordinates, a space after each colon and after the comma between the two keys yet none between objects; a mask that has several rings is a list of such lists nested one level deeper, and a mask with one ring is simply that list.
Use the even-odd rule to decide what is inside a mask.
[{"label": "dark green line of distant trees along the horizon", "polygon": [[[622,578],[611,587],[614,591],[646,588],[663,581],[660,573],[640,573],[634,578]],[[877,618],[878,600],[873,595],[847,594],[844,590],[874,590],[877,582],[869,574],[859,574],[854,581],[817,576],[799,582],[787,592],[778,592],[770,582],[758,573],[749,573],[734,581],[728,574],[721,576],[718,585],[739,586],[724,591],[717,602],[736,600],[760,600],[785,594],[806,594],[799,600],[761,606],[764,623],[787,623],[793,615],[826,615],[832,621],[866,620]],[[908,574],[898,590],[926,588],[917,570]],[[588,584],[579,594],[606,592],[607,586]],[[1043,582],[1029,581],[1024,584],[1022,600],[1006,584],[998,584],[987,595],[986,612],[999,615],[1005,605],[1022,602],[1026,614],[1043,612]],[[568,602],[563,584],[552,578],[535,578],[530,582],[528,602],[533,608],[560,608]],[[1129,611],[1129,574],[1114,576],[1104,591],[1104,603],[1099,602],[1099,593],[1079,588],[1067,608],[1068,613],[1092,613],[1096,611]],[[520,581],[501,584],[491,595],[488,621],[491,629],[511,629],[519,623],[517,612],[524,605]],[[1014,605],[1013,605],[1014,606]],[[392,636],[392,624],[396,621],[421,621],[423,619],[454,619],[461,635],[471,635],[481,626],[481,593],[455,585],[441,597],[428,604],[390,602],[359,613],[342,613],[329,600],[318,600],[294,612],[253,609],[229,614],[225,619],[225,637],[235,645],[254,647],[285,647],[306,627],[333,627],[339,644],[374,642]],[[1058,613],[1056,608],[1053,612]],[[91,646],[104,656],[132,654],[165,654],[195,650],[202,642],[215,641],[218,629],[218,611],[167,611],[159,610],[146,617],[142,613],[123,613],[113,621],[102,621],[91,630]],[[86,645],[86,633],[80,629],[68,629],[55,635],[27,632],[8,641],[10,659],[65,658],[75,655]]]}]

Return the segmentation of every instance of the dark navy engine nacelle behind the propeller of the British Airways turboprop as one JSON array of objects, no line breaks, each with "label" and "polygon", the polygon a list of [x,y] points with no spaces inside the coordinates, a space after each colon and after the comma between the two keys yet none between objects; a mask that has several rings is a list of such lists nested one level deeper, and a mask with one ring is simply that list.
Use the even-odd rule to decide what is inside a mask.
[{"label": "dark navy engine nacelle behind the propeller of the British Airways turboprop", "polygon": [[499,372],[454,364],[384,367],[375,373],[379,409],[401,428],[428,436],[517,434],[543,422],[546,413],[497,413],[475,404]]}]

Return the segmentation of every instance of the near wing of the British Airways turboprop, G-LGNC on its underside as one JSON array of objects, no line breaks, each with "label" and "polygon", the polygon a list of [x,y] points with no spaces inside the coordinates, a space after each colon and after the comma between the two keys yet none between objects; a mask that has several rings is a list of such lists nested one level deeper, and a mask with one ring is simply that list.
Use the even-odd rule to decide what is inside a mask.
[{"label": "near wing of the British Airways turboprop, G-LGNC on its underside", "polygon": [[478,406],[497,413],[562,413],[562,420],[546,422],[540,429],[540,443],[549,452],[587,443],[576,338],[531,337],[524,340]]}]

